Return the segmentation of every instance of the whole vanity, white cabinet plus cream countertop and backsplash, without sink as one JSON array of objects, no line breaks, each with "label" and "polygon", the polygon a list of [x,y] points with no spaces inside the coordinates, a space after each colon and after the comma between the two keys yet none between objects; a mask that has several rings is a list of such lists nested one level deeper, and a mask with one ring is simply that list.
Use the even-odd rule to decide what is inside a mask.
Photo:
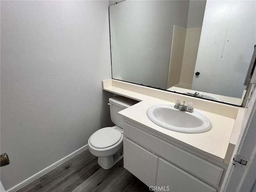
[{"label": "whole vanity, white cabinet plus cream countertop and backsplash, without sink", "polygon": [[[237,116],[242,116],[243,108],[113,79],[103,81],[102,87],[140,101],[119,112],[124,122],[124,168],[150,189],[160,187],[157,191],[167,187],[175,192],[220,191],[240,134]],[[194,110],[210,120],[212,129],[196,134],[174,132],[146,115],[150,106],[174,104],[177,99],[193,102]]]}]

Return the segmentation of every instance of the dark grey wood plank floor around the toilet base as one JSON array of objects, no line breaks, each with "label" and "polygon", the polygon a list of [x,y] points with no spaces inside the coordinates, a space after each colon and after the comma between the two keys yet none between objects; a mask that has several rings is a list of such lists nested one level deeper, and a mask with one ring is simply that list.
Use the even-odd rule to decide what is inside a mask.
[{"label": "dark grey wood plank floor around the toilet base", "polygon": [[102,169],[89,150],[78,154],[18,192],[148,192],[149,188],[124,169],[123,160]]}]

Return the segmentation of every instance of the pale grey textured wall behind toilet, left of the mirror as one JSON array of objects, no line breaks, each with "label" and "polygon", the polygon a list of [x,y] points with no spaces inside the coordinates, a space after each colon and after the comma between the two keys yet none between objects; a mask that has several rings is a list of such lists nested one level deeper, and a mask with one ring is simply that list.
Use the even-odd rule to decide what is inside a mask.
[{"label": "pale grey textured wall behind toilet, left of the mirror", "polygon": [[1,167],[8,190],[109,126],[108,1],[1,1]]}]

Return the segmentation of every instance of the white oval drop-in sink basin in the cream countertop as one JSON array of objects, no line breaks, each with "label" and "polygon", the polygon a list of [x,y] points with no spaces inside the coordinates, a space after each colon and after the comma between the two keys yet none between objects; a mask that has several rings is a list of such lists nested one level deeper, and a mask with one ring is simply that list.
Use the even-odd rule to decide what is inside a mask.
[{"label": "white oval drop-in sink basin in the cream countertop", "polygon": [[182,133],[203,133],[212,128],[210,120],[197,111],[185,112],[173,104],[158,104],[147,110],[148,118],[162,128]]}]

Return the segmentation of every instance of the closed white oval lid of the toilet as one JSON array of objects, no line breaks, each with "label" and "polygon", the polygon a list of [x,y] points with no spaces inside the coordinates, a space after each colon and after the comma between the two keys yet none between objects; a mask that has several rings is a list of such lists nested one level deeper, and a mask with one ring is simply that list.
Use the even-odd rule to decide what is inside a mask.
[{"label": "closed white oval lid of the toilet", "polygon": [[116,144],[121,137],[121,132],[112,127],[105,127],[92,134],[90,144],[95,148],[107,148]]}]

